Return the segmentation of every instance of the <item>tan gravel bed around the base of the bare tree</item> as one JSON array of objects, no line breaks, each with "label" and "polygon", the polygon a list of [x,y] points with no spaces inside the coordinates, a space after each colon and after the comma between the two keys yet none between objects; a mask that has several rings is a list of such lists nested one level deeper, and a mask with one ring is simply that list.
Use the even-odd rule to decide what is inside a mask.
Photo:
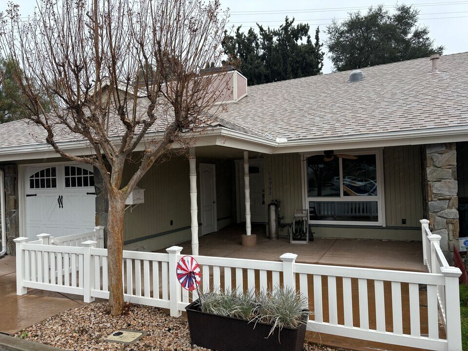
[{"label": "tan gravel bed around the base of the bare tree", "polygon": [[[190,345],[190,332],[183,318],[170,317],[154,307],[127,304],[119,317],[106,313],[107,303],[78,307],[50,317],[18,333],[17,337],[37,341],[66,350],[208,350]],[[147,331],[135,344],[108,343],[107,335],[117,329]],[[209,332],[209,331],[207,331]],[[26,335],[27,333],[27,335]],[[316,345],[304,345],[304,351],[337,351]]]}]

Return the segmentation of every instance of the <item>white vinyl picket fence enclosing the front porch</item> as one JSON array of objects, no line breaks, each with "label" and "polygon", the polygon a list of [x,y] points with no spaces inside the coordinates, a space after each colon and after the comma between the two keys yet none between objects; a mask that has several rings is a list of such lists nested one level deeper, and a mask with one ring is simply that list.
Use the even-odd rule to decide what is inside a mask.
[{"label": "white vinyl picket fence enclosing the front porch", "polygon": [[[42,234],[34,244],[28,243],[28,238],[15,239],[17,293],[37,288],[80,294],[85,302],[108,298],[107,250],[97,248],[96,240],[81,242],[80,247],[47,245],[46,235]],[[302,264],[295,262],[296,254],[283,254],[281,261],[210,256],[195,259],[202,268],[200,289],[204,291],[295,287],[308,298],[312,312],[308,330],[421,349],[459,351],[460,271],[448,267],[440,248],[431,245],[442,261],[432,273]],[[166,251],[123,252],[124,298],[169,309],[177,317],[197,296],[196,292],[182,289],[176,279],[182,248],[173,246]]]}]

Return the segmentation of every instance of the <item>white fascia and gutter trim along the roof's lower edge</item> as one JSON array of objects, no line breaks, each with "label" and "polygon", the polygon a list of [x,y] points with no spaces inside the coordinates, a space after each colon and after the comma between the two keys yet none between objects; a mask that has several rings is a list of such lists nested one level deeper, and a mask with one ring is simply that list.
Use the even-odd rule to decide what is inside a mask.
[{"label": "white fascia and gutter trim along the roof's lower edge", "polygon": [[[141,141],[136,151],[141,151],[145,143],[162,137],[164,133],[148,135]],[[193,138],[194,134],[187,135]],[[215,127],[195,136],[195,147],[206,145],[220,145],[265,154],[286,154],[297,152],[323,151],[325,149],[362,149],[399,145],[421,145],[430,143],[456,142],[468,140],[468,126],[431,128],[415,131],[402,131],[369,134],[365,136],[328,137],[319,139],[302,139],[285,142],[253,136],[237,132],[225,127]],[[59,147],[73,155],[90,155],[93,150],[83,145],[83,141],[58,143]],[[180,145],[173,145],[173,148]],[[48,144],[34,146],[9,147],[0,150],[1,161],[21,159],[38,159],[59,157]]]}]

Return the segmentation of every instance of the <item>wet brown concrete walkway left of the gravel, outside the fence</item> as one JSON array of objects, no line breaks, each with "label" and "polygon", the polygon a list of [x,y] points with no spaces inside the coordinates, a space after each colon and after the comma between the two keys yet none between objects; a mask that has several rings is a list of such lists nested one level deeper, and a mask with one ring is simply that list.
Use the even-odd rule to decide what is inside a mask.
[{"label": "wet brown concrete walkway left of the gravel, outside the fence", "polygon": [[84,305],[81,296],[29,289],[16,294],[16,257],[0,259],[0,332],[13,335],[57,313]]}]

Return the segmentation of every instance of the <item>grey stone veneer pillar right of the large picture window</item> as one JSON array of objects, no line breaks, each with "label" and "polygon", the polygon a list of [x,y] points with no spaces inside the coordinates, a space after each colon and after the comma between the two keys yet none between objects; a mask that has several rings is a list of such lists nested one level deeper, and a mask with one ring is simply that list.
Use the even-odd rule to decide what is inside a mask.
[{"label": "grey stone veneer pillar right of the large picture window", "polygon": [[[447,257],[458,245],[458,182],[455,143],[429,144],[425,147],[426,214],[432,234],[439,234],[440,246]],[[449,259],[449,262],[452,258]]]}]

